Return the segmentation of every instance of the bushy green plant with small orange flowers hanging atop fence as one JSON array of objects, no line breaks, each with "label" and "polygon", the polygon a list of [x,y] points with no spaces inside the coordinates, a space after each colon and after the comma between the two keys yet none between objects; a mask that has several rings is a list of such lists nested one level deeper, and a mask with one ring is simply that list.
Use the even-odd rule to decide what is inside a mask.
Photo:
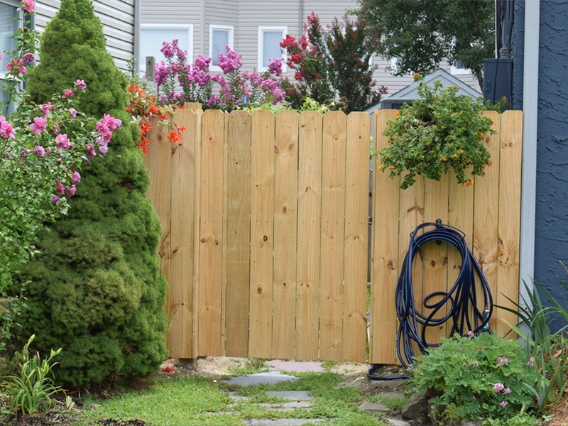
[{"label": "bushy green plant with small orange flowers hanging atop fence", "polygon": [[379,170],[388,170],[391,178],[405,173],[403,189],[413,185],[417,175],[440,180],[450,170],[457,182],[473,185],[466,173],[471,167],[471,175],[484,175],[491,160],[482,141],[487,133],[496,133],[491,119],[481,112],[501,109],[505,101],[488,106],[482,98],[458,94],[457,86],[442,89],[436,80],[430,87],[418,74],[415,81],[420,82],[420,99],[405,104],[396,119],[388,121],[383,135],[391,146],[379,151]]}]

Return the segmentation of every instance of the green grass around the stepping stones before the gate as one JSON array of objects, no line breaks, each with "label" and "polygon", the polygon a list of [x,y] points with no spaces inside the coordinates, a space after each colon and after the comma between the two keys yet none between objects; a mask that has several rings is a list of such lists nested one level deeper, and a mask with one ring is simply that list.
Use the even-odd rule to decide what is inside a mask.
[{"label": "green grass around the stepping stones before the gate", "polygon": [[[232,401],[224,383],[211,378],[156,378],[142,391],[121,391],[106,400],[89,398],[84,401],[82,417],[72,425],[97,425],[102,419],[144,420],[155,426],[244,425],[249,418],[322,419],[318,425],[384,426],[381,417],[359,412],[364,395],[357,388],[337,388],[342,377],[335,373],[297,373],[297,381],[275,385],[237,388],[247,400]],[[258,403],[278,406],[282,398],[266,395],[265,391],[310,391],[310,408],[290,411],[271,410]]]}]

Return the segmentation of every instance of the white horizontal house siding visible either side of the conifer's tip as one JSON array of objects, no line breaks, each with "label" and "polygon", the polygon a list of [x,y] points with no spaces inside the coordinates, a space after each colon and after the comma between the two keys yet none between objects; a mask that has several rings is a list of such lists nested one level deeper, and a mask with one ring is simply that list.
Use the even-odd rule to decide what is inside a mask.
[{"label": "white horizontal house siding visible either side of the conifer's tip", "polygon": [[[43,31],[55,13],[60,0],[35,2],[35,28]],[[134,54],[135,0],[94,0],[94,13],[101,20],[107,37],[107,50],[119,69],[126,71]]]}]

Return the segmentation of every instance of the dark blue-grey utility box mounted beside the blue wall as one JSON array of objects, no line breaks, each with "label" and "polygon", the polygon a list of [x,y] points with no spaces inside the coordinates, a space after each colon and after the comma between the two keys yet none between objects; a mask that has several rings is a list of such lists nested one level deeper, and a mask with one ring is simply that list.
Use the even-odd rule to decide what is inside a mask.
[{"label": "dark blue-grey utility box mounted beside the blue wall", "polygon": [[509,58],[484,59],[484,98],[491,103],[507,98],[510,109],[513,93],[513,60]]}]

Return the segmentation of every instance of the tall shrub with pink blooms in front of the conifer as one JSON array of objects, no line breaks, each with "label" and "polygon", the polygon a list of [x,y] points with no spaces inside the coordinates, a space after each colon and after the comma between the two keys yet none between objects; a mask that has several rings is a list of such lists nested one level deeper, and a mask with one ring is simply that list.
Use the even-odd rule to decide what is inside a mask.
[{"label": "tall shrub with pink blooms in front of the conifer", "polygon": [[[21,2],[21,9],[27,13],[32,13],[33,7],[31,0]],[[120,120],[108,114],[97,121],[75,109],[87,89],[83,80],[76,80],[74,87],[54,95],[45,104],[35,104],[18,89],[35,59],[35,38],[33,31],[21,30],[16,35],[16,50],[9,52],[11,60],[6,66],[9,76],[4,89],[9,102],[18,107],[9,117],[0,115],[2,298],[9,294],[13,275],[36,252],[38,231],[45,223],[67,213],[68,198],[75,195],[81,181],[82,164],[96,155],[105,155],[113,131],[121,126]],[[7,107],[4,105],[3,109]],[[0,337],[10,337],[8,326],[7,322],[2,324]]]}]

